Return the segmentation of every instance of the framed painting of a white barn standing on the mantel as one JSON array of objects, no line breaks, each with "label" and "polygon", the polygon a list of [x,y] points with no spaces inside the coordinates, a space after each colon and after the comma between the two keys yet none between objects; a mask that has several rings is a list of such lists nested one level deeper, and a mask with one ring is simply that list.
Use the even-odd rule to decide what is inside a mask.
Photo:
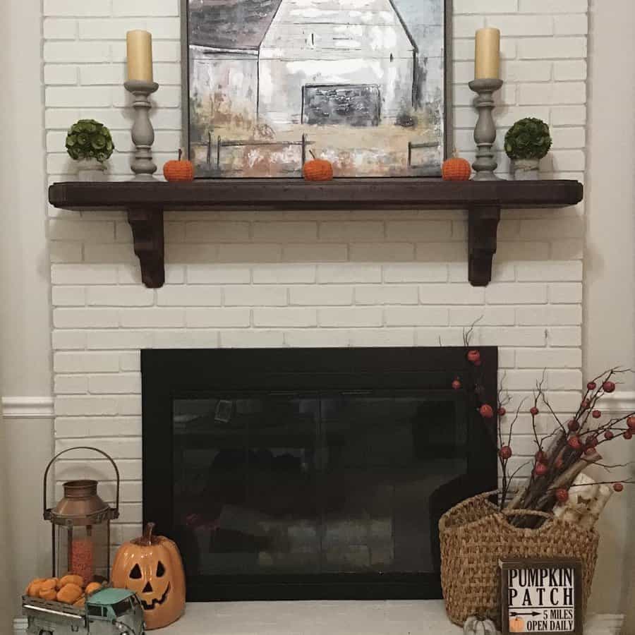
[{"label": "framed painting of a white barn standing on the mantel", "polygon": [[[308,1],[310,2],[310,0]],[[316,8],[304,7],[307,4],[306,1],[301,3],[306,9],[306,15],[313,16],[316,11],[319,13],[318,5],[322,6],[323,0],[322,2],[315,1]],[[401,63],[401,68],[412,68],[412,112],[410,114],[406,112],[406,106],[404,106],[408,101],[404,95],[408,91],[404,89],[403,81],[399,83],[398,90],[397,83],[391,84],[386,80],[382,84],[379,80],[363,78],[363,73],[351,72],[348,78],[343,76],[346,73],[340,73],[342,77],[337,75],[339,81],[335,81],[333,79],[335,75],[332,73],[329,75],[326,71],[319,70],[325,64],[341,66],[341,59],[327,59],[314,64],[318,70],[316,71],[314,68],[315,72],[310,77],[308,77],[310,73],[304,73],[303,79],[299,83],[296,79],[285,80],[287,81],[286,85],[293,86],[293,90],[289,89],[289,94],[293,94],[294,97],[290,101],[294,104],[293,107],[289,107],[291,114],[280,114],[282,107],[279,104],[286,102],[286,98],[283,98],[282,101],[276,102],[275,99],[272,101],[270,91],[267,93],[269,102],[267,99],[261,99],[264,92],[265,76],[267,78],[280,78],[281,73],[284,75],[283,71],[280,70],[282,67],[279,60],[265,60],[265,57],[273,58],[276,54],[275,51],[272,53],[270,49],[267,49],[268,52],[263,52],[263,42],[265,42],[266,37],[270,36],[262,37],[262,28],[260,30],[254,28],[247,35],[235,28],[224,38],[218,36],[219,45],[225,47],[226,52],[214,49],[211,52],[205,50],[202,53],[205,56],[205,62],[208,59],[214,59],[214,64],[218,68],[218,73],[214,75],[210,70],[210,64],[208,63],[206,66],[196,57],[200,54],[201,47],[199,44],[193,44],[192,34],[194,32],[200,33],[200,28],[195,30],[195,23],[200,27],[201,20],[199,19],[197,23],[198,18],[194,18],[190,11],[191,4],[194,2],[197,6],[207,3],[214,8],[221,9],[241,4],[245,4],[248,8],[257,8],[258,4],[262,6],[273,4],[277,6],[277,10],[270,22],[267,22],[269,18],[265,20],[270,28],[267,34],[275,31],[272,25],[275,24],[278,16],[283,16],[285,11],[287,17],[291,14],[296,15],[298,11],[301,12],[301,7],[295,6],[297,0],[181,0],[183,144],[186,147],[186,154],[195,165],[195,178],[301,178],[303,164],[310,160],[312,154],[332,162],[336,178],[438,178],[441,176],[442,162],[452,155],[452,0],[365,0],[369,10],[365,12],[363,19],[372,22],[375,20],[375,16],[387,15],[389,11],[381,12],[373,9],[377,4],[381,4],[382,8],[385,8],[386,4],[386,6],[392,7],[394,12],[392,16],[382,18],[382,20],[385,19],[392,26],[389,28],[387,25],[370,25],[369,30],[365,29],[363,25],[351,25],[346,21],[329,25],[333,30],[341,33],[341,36],[337,37],[333,34],[325,35],[323,28],[325,25],[322,24],[327,20],[325,16],[311,18],[313,23],[310,25],[307,23],[291,25],[296,27],[296,31],[300,34],[298,37],[304,37],[306,42],[310,42],[310,37],[313,37],[313,42],[320,42],[320,38],[325,40],[327,37],[332,37],[332,42],[335,42],[336,47],[339,47],[342,42],[346,46],[350,44],[353,47],[357,41],[350,37],[351,32],[362,37],[368,32],[374,32],[378,40],[382,40],[382,37],[385,37],[385,40],[390,40],[386,33],[394,35],[397,32],[404,37],[406,37],[405,34],[408,34],[411,44],[414,42],[412,49],[414,51],[418,49],[418,40],[413,41],[415,36],[411,35],[410,30],[413,33],[416,32],[416,37],[419,40],[421,38],[425,40],[425,33],[428,31],[426,31],[425,25],[418,25],[417,29],[409,29],[406,18],[401,15],[401,9],[403,6],[410,7],[410,15],[412,11],[418,11],[418,9],[413,10],[412,7],[425,5],[432,7],[435,11],[438,10],[442,13],[442,24],[430,25],[430,30],[435,30],[434,32],[437,32],[440,37],[439,42],[442,42],[440,44],[440,57],[437,60],[440,64],[437,75],[440,75],[440,78],[435,83],[432,71],[425,75],[425,90],[428,90],[425,95],[438,88],[435,92],[438,98],[426,101],[427,97],[425,99],[425,95],[422,97],[421,68],[423,67],[419,61],[420,57],[414,52],[411,53],[410,66],[407,65],[407,44],[406,52],[399,49],[401,53],[390,53],[387,60],[382,59],[377,62],[376,59],[373,59],[372,63],[368,62],[367,64],[367,66],[375,68],[379,63],[384,65]],[[290,3],[290,5],[285,7],[285,3]],[[397,6],[399,3],[404,4],[400,7]],[[328,4],[329,6],[334,5],[331,13],[338,15],[353,13],[348,9],[344,10],[348,6],[346,0],[330,0]],[[356,13],[361,12],[357,11]],[[377,18],[377,20],[379,19]],[[410,19],[413,18],[410,17]],[[307,20],[308,18],[305,22]],[[320,22],[320,20],[322,21]],[[278,34],[288,30],[288,23],[284,24],[284,30],[279,29]],[[314,27],[315,33],[312,32]],[[382,28],[386,30],[383,36],[380,31]],[[226,32],[227,29],[216,29],[216,31]],[[377,32],[380,35],[377,35]],[[422,33],[424,35],[421,35]],[[231,49],[230,44],[236,40],[236,37],[242,38],[241,46],[243,49]],[[404,37],[401,37],[402,42],[405,41]],[[357,42],[357,44],[359,43]],[[359,46],[363,47],[363,44],[359,44]],[[192,47],[198,47],[196,55],[192,53]],[[214,47],[208,48],[213,49]],[[327,51],[325,56],[334,55],[337,57],[338,54]],[[421,59],[424,59],[423,56]],[[425,58],[425,62],[430,63],[430,59],[436,60],[437,58]],[[285,63],[287,70],[294,64],[289,60],[286,60]],[[291,68],[291,71],[298,70],[298,63]],[[244,103],[241,111],[243,114],[240,116],[234,116],[231,107],[221,105],[226,102],[226,94],[223,92],[222,81],[217,82],[216,80],[217,78],[229,77],[234,80],[238,76],[236,73],[232,74],[231,69],[228,70],[228,66],[231,64],[243,64],[243,68],[255,68],[253,71],[255,73],[254,85],[247,81],[247,71],[236,71],[242,77],[242,80],[238,82],[241,86],[240,90],[250,93],[250,99],[256,104],[255,116],[252,113],[251,119],[248,116],[243,116],[246,108]],[[352,68],[353,64],[351,63]],[[287,75],[294,75],[291,71]],[[202,75],[212,73],[213,80],[210,82],[205,80],[201,83],[201,73]],[[298,73],[302,74],[302,71],[298,71]],[[318,75],[321,79],[313,80]],[[379,73],[379,76],[381,75],[382,73]],[[401,75],[410,76],[405,71]],[[195,76],[199,79],[194,80]],[[350,80],[350,77],[353,77],[353,80]],[[429,81],[428,77],[430,77]],[[194,104],[200,104],[200,91],[196,92],[198,97],[193,97],[195,92],[193,86],[203,86],[207,90],[207,86],[210,84],[216,87],[217,92],[214,95],[206,95],[209,108],[201,109],[195,106]],[[275,84],[277,85],[278,82]],[[284,85],[284,82],[281,81],[280,84]],[[393,85],[394,89],[390,89]],[[275,89],[274,92],[277,90]],[[395,95],[392,95],[391,90],[394,90]],[[254,92],[257,93],[256,97],[253,97]],[[284,91],[282,92],[284,93]],[[397,93],[401,95],[399,99],[396,97]],[[236,101],[239,100],[236,98]],[[240,109],[236,108],[236,112],[238,110]],[[212,112],[211,117],[208,116],[210,111]],[[202,112],[205,113],[205,117],[202,118],[203,123],[201,124]],[[341,128],[337,128],[338,124]]]}]

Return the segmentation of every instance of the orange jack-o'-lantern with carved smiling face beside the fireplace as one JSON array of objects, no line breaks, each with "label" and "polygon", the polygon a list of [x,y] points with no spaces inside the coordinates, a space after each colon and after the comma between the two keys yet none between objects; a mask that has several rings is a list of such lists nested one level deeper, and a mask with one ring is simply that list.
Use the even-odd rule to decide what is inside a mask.
[{"label": "orange jack-o'-lantern with carved smiling face beside the fireplace", "polygon": [[179,548],[164,536],[152,536],[148,523],[142,538],[121,545],[112,565],[112,583],[137,594],[147,630],[176,622],[185,610],[185,574]]}]

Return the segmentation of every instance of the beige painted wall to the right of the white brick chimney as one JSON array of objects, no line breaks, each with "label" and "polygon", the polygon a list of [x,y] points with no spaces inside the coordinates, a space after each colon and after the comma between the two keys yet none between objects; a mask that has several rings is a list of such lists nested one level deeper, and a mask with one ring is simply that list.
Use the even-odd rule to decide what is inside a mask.
[{"label": "beige painted wall to the right of the white brick chimney", "polygon": [[[635,3],[593,0],[590,18],[583,346],[587,377],[618,364],[635,368]],[[618,392],[633,404],[635,375],[624,382]],[[612,444],[610,459],[616,464],[635,461],[634,442]],[[635,476],[632,466],[630,473]],[[634,526],[631,486],[613,497],[600,523],[591,610],[618,612],[635,605]],[[635,624],[630,629],[635,632]]]}]

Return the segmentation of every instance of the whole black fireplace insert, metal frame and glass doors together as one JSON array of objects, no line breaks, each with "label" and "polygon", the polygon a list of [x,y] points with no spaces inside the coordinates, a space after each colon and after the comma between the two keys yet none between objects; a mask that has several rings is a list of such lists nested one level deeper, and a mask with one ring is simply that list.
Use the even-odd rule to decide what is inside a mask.
[{"label": "whole black fireplace insert, metal frame and glass doors together", "polygon": [[188,600],[440,598],[440,516],[497,485],[479,350],[142,351],[143,516]]}]

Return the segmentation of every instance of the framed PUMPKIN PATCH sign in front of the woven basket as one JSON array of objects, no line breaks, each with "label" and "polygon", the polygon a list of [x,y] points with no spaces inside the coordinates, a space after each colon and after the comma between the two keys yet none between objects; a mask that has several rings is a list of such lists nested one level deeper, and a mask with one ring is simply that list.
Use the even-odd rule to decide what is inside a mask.
[{"label": "framed PUMPKIN PATCH sign in front of the woven basket", "polygon": [[583,635],[581,560],[505,559],[499,566],[503,635]]}]

